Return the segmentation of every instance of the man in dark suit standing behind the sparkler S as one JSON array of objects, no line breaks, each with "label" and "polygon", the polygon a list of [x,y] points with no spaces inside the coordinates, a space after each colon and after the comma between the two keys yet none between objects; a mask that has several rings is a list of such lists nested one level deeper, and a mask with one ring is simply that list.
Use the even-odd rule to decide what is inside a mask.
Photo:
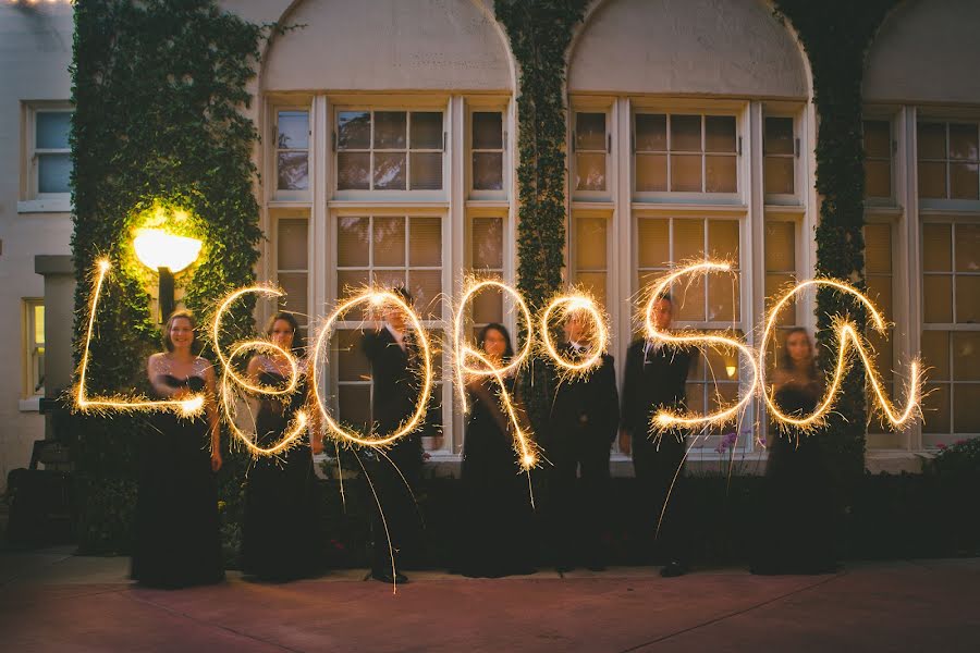
[{"label": "man in dark suit standing behind the sparkler S", "polygon": [[[653,320],[658,330],[670,330],[673,304],[669,295],[654,303]],[[641,506],[639,532],[647,542],[656,533],[658,552],[667,563],[661,569],[665,577],[681,576],[688,568],[689,519],[681,505],[685,498],[681,469],[685,443],[679,430],[651,435],[650,422],[661,409],[684,410],[685,383],[695,354],[690,348],[646,338],[630,344],[626,353],[620,447],[624,453],[633,449]],[[658,522],[660,528],[654,530]]]}]

